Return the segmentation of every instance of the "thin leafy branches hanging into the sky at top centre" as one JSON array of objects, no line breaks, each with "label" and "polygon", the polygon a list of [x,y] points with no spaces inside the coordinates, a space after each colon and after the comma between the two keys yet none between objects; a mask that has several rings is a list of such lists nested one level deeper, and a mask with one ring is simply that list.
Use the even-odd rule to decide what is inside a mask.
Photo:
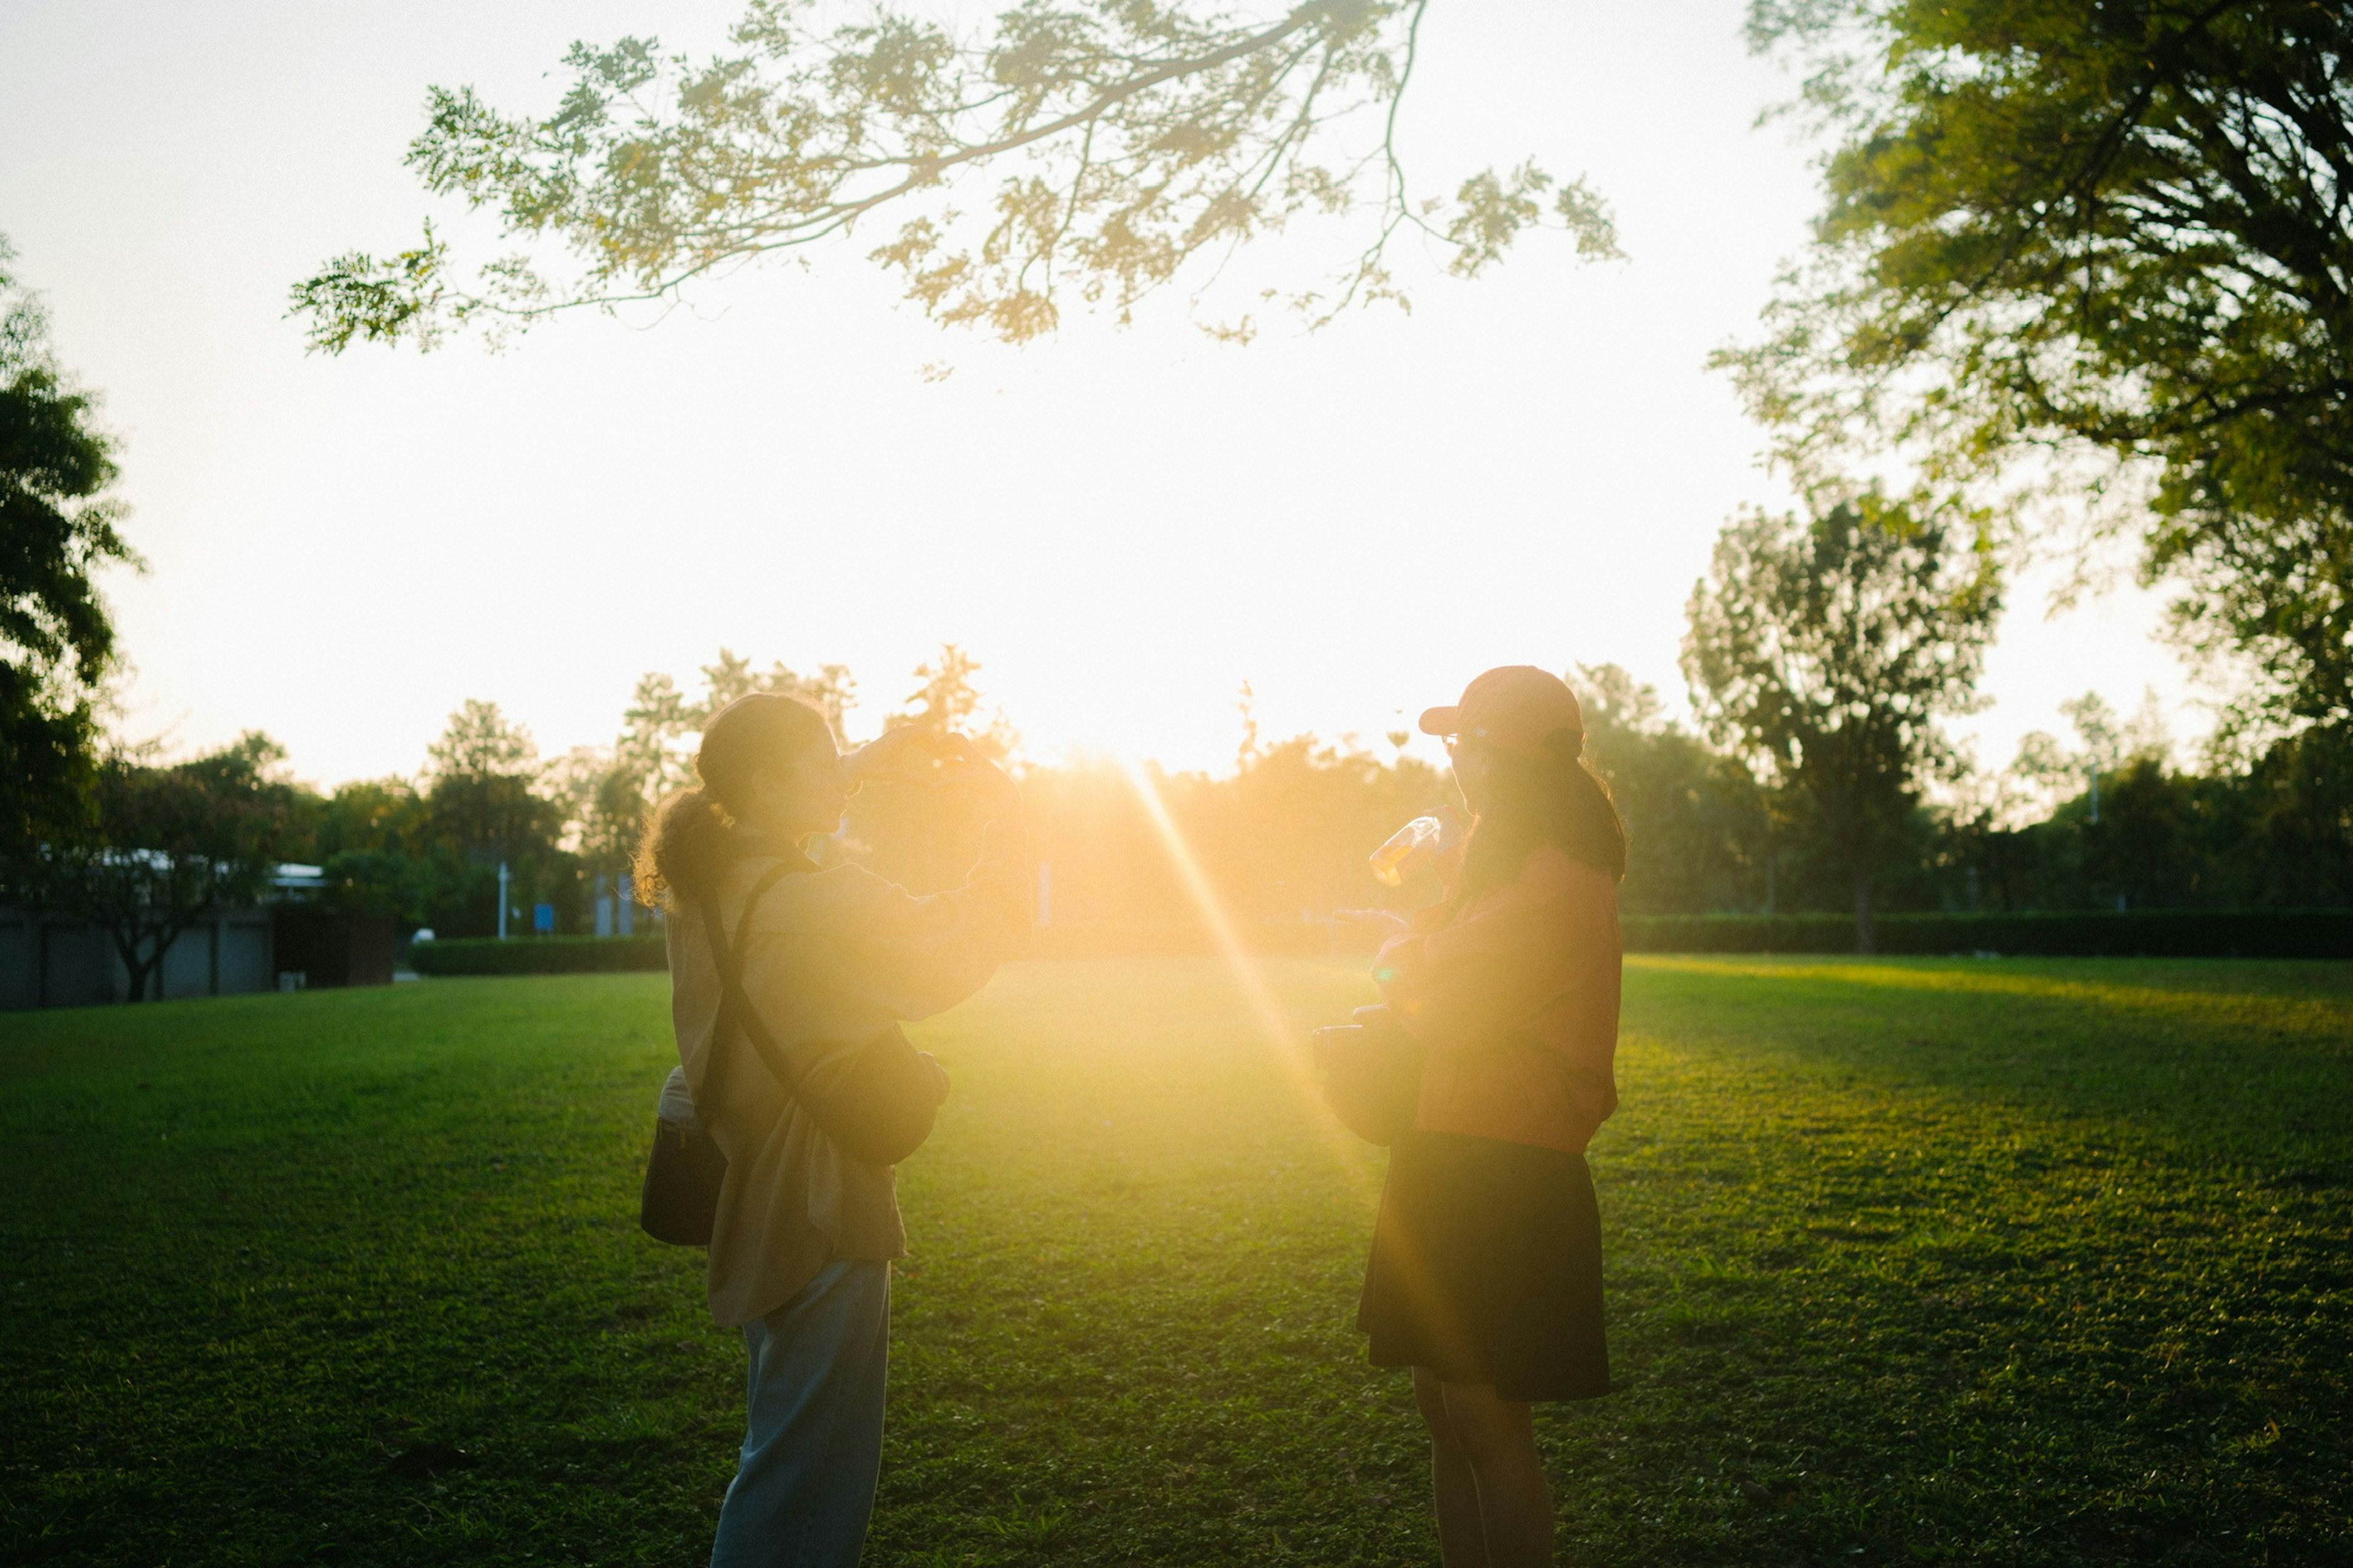
[{"label": "thin leafy branches hanging into the sky at top centre", "polygon": [[1452,205],[1412,197],[1395,132],[1426,7],[1306,0],[1235,24],[1184,0],[1021,0],[962,42],[892,7],[821,33],[805,0],[751,0],[706,63],[652,38],[576,42],[553,113],[435,87],[409,143],[426,190],[494,207],[520,252],[468,282],[428,226],[414,249],[336,256],[294,310],[327,353],[431,348],[452,327],[675,303],[868,221],[896,223],[868,259],[908,299],[1009,343],[1054,329],[1073,296],[1127,320],[1195,256],[1301,214],[1374,214],[1355,263],[1292,299],[1313,320],[1405,299],[1384,266],[1405,226],[1466,277],[1546,221],[1614,256],[1602,202],[1532,162],[1466,179]]}]

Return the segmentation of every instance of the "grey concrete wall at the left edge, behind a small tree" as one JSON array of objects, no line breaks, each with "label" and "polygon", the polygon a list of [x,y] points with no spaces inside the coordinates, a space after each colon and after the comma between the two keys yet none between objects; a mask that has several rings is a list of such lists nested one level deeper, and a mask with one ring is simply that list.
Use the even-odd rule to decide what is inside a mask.
[{"label": "grey concrete wall at the left edge, behind a small tree", "polygon": [[[162,994],[233,997],[278,987],[268,910],[224,910],[179,933]],[[115,943],[96,926],[0,910],[0,1009],[92,1006],[129,997]]]}]

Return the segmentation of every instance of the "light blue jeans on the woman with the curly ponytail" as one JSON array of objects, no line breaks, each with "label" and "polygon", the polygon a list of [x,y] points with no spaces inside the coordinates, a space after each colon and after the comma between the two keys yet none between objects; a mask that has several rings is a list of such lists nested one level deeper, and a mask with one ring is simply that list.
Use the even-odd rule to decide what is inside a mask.
[{"label": "light blue jeans on the woman with the curly ponytail", "polygon": [[751,1420],[711,1568],[854,1568],[882,1469],[889,1265],[835,1258],[744,1324]]}]

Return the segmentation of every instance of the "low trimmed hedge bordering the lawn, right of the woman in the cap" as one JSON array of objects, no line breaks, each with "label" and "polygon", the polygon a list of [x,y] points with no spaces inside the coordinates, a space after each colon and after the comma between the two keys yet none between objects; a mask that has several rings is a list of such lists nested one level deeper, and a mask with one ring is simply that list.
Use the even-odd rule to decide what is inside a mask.
[{"label": "low trimmed hedge bordering the lawn, right of the woman in the cap", "polygon": [[[1628,914],[1626,952],[1854,952],[1852,914]],[[2353,959],[2353,910],[1880,914],[1880,952]]]}]

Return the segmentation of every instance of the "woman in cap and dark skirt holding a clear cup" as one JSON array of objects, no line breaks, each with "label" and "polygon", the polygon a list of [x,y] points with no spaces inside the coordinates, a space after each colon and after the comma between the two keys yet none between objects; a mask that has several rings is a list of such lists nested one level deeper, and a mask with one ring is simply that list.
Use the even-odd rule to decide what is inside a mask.
[{"label": "woman in cap and dark skirt holding a clear cup", "polygon": [[1487,670],[1421,729],[1447,738],[1473,825],[1442,900],[1388,917],[1374,964],[1426,1058],[1358,1328],[1374,1366],[1414,1368],[1447,1568],[1520,1568],[1553,1561],[1532,1401],[1609,1392],[1584,1150],[1617,1110],[1626,835],[1555,675]]}]

